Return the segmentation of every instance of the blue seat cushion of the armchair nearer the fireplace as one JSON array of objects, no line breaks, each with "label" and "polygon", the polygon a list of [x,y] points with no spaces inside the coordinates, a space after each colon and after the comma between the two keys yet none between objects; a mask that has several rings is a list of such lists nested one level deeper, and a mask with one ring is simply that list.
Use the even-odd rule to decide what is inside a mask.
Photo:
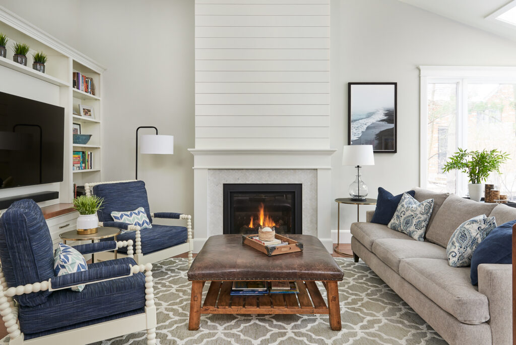
[{"label": "blue seat cushion of the armchair nearer the fireplace", "polygon": [[[185,243],[188,239],[188,230],[184,226],[154,224],[150,229],[140,230],[140,236],[141,253],[145,255]],[[127,231],[117,236],[117,241],[127,240],[135,242],[136,232]],[[112,241],[112,238],[102,239],[101,241]],[[134,244],[133,250],[135,250]],[[118,251],[120,253],[127,253],[127,247],[119,248]]]}]

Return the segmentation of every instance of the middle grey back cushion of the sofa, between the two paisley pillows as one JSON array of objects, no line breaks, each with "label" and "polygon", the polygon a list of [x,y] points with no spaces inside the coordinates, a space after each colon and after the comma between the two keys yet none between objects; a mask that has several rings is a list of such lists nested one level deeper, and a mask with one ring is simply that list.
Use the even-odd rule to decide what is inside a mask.
[{"label": "middle grey back cushion of the sofa, between the two paisley pillows", "polygon": [[491,214],[496,203],[483,203],[461,198],[455,194],[444,200],[426,232],[426,239],[442,247],[448,245],[451,234],[465,221],[481,214]]}]

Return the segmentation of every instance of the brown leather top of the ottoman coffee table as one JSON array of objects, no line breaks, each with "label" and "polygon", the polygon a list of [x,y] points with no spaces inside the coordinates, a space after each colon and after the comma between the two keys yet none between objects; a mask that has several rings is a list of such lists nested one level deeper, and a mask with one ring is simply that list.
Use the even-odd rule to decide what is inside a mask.
[{"label": "brown leather top of the ottoman coffee table", "polygon": [[193,260],[188,280],[342,280],[344,273],[314,236],[288,234],[302,252],[267,256],[238,234],[210,237]]}]

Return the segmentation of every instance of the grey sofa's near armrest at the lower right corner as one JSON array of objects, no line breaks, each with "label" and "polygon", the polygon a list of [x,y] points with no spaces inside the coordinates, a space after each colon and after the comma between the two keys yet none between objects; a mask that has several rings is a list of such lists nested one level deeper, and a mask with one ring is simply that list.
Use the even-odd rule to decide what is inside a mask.
[{"label": "grey sofa's near armrest at the lower right corner", "polygon": [[478,292],[489,301],[489,321],[493,345],[512,344],[512,265],[478,265]]}]

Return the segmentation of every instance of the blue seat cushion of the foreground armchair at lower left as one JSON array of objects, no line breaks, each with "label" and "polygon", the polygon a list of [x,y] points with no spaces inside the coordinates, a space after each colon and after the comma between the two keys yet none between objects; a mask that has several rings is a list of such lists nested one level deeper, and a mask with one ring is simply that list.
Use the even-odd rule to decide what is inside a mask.
[{"label": "blue seat cushion of the foreground armchair at lower left", "polygon": [[[127,264],[135,265],[132,258],[91,263],[88,269]],[[21,306],[20,329],[33,334],[67,327],[82,322],[106,318],[145,306],[145,275],[137,273],[130,277],[88,284],[81,293],[63,289],[53,291],[45,303]]]}]

